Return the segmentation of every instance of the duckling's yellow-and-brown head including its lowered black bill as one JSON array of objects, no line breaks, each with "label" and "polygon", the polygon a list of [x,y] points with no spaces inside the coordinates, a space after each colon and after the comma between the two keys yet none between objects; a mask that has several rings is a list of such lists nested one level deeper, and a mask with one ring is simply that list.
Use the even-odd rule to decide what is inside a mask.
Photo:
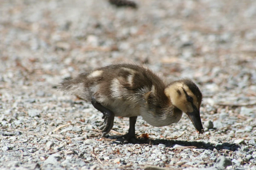
[{"label": "duckling's yellow-and-brown head including its lowered black bill", "polygon": [[203,134],[200,118],[202,93],[196,84],[188,78],[180,79],[169,84],[164,93],[175,107],[188,115],[198,134]]}]

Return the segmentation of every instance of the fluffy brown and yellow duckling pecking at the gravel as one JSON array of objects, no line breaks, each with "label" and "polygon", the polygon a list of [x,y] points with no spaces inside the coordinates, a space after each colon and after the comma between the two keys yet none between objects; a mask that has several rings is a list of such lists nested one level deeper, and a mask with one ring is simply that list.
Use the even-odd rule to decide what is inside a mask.
[{"label": "fluffy brown and yellow duckling pecking at the gravel", "polygon": [[200,118],[202,94],[188,78],[166,83],[144,65],[111,64],[64,80],[60,89],[91,102],[103,113],[102,136],[110,132],[115,116],[129,117],[125,136],[127,141],[136,143],[138,116],[152,126],[161,127],[177,123],[183,112],[198,134],[204,132]]}]

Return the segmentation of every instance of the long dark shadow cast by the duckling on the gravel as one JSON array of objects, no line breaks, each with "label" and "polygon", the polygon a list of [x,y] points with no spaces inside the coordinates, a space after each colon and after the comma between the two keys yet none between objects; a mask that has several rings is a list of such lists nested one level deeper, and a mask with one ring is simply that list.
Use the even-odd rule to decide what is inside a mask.
[{"label": "long dark shadow cast by the duckling on the gravel", "polygon": [[[124,138],[121,135],[114,135],[111,136],[114,139],[117,139],[119,142],[123,142]],[[140,137],[136,137],[139,141],[142,141],[144,144],[150,144],[150,145],[159,145],[159,144],[164,144],[166,147],[172,148],[174,145],[180,145],[181,147],[196,147],[197,149],[207,149],[207,150],[213,150],[216,149],[218,151],[223,151],[223,149],[227,151],[234,151],[238,150],[238,148],[241,148],[242,145],[235,144],[235,143],[222,143],[221,145],[214,145],[211,143],[204,143],[204,142],[197,142],[197,141],[183,141],[183,140],[175,140],[175,139],[143,139]]]}]

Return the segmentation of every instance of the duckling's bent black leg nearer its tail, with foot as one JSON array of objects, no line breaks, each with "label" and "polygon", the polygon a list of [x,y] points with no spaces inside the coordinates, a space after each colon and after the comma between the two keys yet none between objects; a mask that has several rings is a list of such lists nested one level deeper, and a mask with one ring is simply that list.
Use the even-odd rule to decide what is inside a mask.
[{"label": "duckling's bent black leg nearer its tail, with foot", "polygon": [[[102,119],[104,119],[104,123],[102,126],[100,126],[100,130],[102,130],[102,136],[105,136],[109,133],[109,131],[113,127],[115,115],[111,110],[107,109],[106,107],[102,106],[99,102],[97,102],[94,96],[92,97],[91,103],[93,104],[95,109],[103,113]],[[135,131],[134,131],[134,135],[135,135]]]}]

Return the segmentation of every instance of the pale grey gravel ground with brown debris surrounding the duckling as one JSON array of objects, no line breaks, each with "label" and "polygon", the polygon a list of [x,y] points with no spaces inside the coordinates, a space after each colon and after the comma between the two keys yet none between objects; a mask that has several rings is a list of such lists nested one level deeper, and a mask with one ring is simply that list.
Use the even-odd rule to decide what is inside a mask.
[{"label": "pale grey gravel ground with brown debris surrounding the duckling", "polygon": [[[0,1],[0,169],[256,169],[256,1]],[[186,115],[122,144],[128,118],[99,137],[102,114],[56,87],[115,62],[192,78],[204,98],[198,135]]]}]

